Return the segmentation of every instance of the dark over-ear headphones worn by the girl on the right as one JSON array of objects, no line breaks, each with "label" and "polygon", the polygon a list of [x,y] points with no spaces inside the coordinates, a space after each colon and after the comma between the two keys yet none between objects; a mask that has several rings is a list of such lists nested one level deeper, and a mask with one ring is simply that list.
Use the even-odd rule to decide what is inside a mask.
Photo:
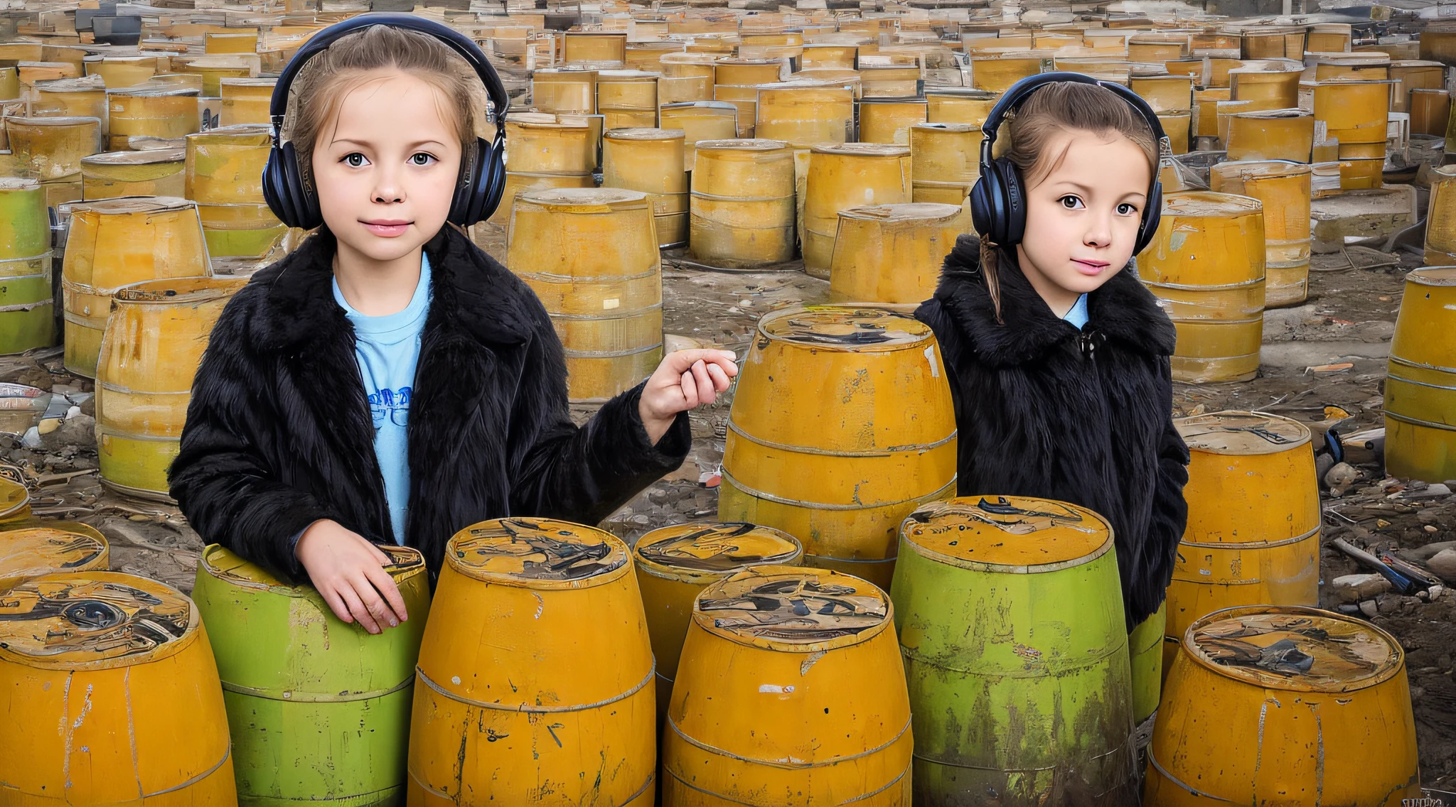
[{"label": "dark over-ear headphones worn by the girl on the right", "polygon": [[[996,106],[986,116],[986,124],[981,125],[981,134],[986,135],[981,141],[981,177],[976,180],[976,188],[971,189],[971,222],[976,224],[977,233],[989,237],[996,246],[1009,247],[1019,244],[1022,234],[1026,231],[1026,198],[1021,185],[1021,172],[1006,157],[992,158],[996,131],[1000,128],[1008,112],[1015,112],[1031,93],[1053,81],[1096,84],[1112,90],[1128,106],[1136,109],[1149,128],[1152,128],[1159,156],[1168,148],[1168,137],[1163,134],[1163,125],[1158,121],[1158,113],[1137,93],[1121,84],[1098,81],[1082,73],[1041,73],[1016,81],[996,102]],[[1153,234],[1158,233],[1158,220],[1162,217],[1162,209],[1163,183],[1159,182],[1158,170],[1155,169],[1153,183],[1147,189],[1147,204],[1143,205],[1143,220],[1137,227],[1137,247],[1133,250],[1133,254],[1143,252],[1143,247],[1153,240]]]}]

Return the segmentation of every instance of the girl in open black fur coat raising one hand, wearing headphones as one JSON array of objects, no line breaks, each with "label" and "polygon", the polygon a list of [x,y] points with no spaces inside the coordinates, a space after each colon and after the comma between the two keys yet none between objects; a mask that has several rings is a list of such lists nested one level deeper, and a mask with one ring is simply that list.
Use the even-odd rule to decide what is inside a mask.
[{"label": "girl in open black fur coat raising one hand, wearing headphones", "polygon": [[[475,132],[480,83],[494,142]],[[469,38],[412,15],[300,48],[264,186],[285,224],[319,230],[229,302],[170,470],[205,541],[307,576],[370,633],[408,618],[374,544],[438,574],[479,521],[596,523],[681,464],[687,410],[737,374],[732,353],[676,352],[572,425],[546,310],[462,230],[501,198],[507,106]]]}]

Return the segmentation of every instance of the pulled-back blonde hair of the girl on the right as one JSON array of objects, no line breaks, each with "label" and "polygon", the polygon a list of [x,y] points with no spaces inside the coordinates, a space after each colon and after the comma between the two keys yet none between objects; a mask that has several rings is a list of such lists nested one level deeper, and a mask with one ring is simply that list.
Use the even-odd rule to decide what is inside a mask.
[{"label": "pulled-back blonde hair of the girl on the right", "polygon": [[[1045,174],[1057,170],[1067,157],[1067,148],[1048,153],[1051,140],[1061,132],[1085,131],[1098,137],[1118,134],[1133,141],[1147,157],[1152,176],[1158,174],[1158,141],[1152,128],[1125,100],[1107,87],[1075,81],[1056,81],[1031,93],[1008,115],[1008,122],[996,138],[1002,147],[997,157],[1006,157],[1022,177],[1022,190]],[[981,272],[1000,323],[1000,278],[996,253],[1000,247],[981,236]]]}]

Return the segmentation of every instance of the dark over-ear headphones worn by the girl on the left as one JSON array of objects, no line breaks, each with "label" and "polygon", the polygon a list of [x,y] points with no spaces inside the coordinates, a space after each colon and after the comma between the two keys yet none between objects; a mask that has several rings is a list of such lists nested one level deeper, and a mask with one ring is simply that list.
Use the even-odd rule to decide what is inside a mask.
[{"label": "dark over-ear headphones worn by the girl on the left", "polygon": [[486,61],[480,48],[466,35],[434,20],[416,17],[414,15],[360,15],[341,23],[331,25],[314,33],[298,52],[288,60],[288,65],[278,76],[274,87],[272,102],[268,113],[272,118],[274,144],[268,154],[268,164],[264,167],[264,199],[272,208],[274,215],[288,227],[313,230],[323,224],[323,214],[319,212],[319,196],[298,170],[298,156],[291,142],[281,142],[282,121],[288,111],[288,87],[304,64],[320,51],[336,42],[341,36],[354,33],[371,25],[387,25],[405,31],[428,33],[457,54],[475,68],[475,74],[485,83],[485,92],[491,97],[492,116],[495,124],[495,141],[475,138],[475,148],[466,147],[460,154],[460,179],[456,180],[454,199],[450,202],[450,221],[460,227],[469,227],[476,221],[488,218],[501,204],[501,193],[505,190],[505,111],[510,106],[510,96],[505,95],[505,84],[495,74],[495,68]]}]

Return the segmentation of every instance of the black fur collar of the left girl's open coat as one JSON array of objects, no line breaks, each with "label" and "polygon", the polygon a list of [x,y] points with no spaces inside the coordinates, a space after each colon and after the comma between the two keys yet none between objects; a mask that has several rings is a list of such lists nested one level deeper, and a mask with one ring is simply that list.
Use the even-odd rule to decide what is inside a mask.
[{"label": "black fur collar of the left girl's open coat", "polygon": [[[261,286],[249,330],[265,352],[307,350],[328,329],[345,320],[333,300],[333,253],[338,241],[320,227],[282,260],[259,270]],[[482,345],[520,345],[531,333],[534,295],[518,278],[480,252],[463,231],[444,225],[425,243],[430,256],[430,323],[459,329]],[[430,327],[430,326],[427,326]]]}]

